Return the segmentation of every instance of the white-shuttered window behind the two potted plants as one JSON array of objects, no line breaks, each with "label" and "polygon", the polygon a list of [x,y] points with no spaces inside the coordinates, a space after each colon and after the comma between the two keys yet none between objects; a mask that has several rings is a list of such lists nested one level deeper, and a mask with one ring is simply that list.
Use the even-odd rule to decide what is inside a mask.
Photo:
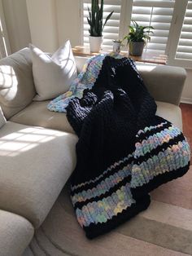
[{"label": "white-shuttered window behind the two potted plants", "polygon": [[[90,0],[81,0],[82,43],[89,45],[86,16]],[[192,0],[105,0],[104,17],[115,11],[103,31],[103,48],[128,33],[131,19],[154,27],[144,51],[168,55],[168,64],[192,68]]]}]

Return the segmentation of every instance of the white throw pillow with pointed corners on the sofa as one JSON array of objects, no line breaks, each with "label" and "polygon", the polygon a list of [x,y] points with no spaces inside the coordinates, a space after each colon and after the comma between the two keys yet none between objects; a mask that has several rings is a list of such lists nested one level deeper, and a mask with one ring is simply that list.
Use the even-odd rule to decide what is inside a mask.
[{"label": "white throw pillow with pointed corners on the sofa", "polygon": [[53,99],[68,91],[76,78],[76,61],[68,40],[52,56],[29,44],[32,52],[33,79],[37,95],[33,100]]}]

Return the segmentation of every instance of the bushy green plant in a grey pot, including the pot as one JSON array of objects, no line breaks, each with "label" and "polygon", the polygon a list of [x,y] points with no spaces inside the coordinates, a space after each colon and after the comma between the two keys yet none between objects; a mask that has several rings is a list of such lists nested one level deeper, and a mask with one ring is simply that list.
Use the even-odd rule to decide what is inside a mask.
[{"label": "bushy green plant in a grey pot, including the pot", "polygon": [[131,20],[133,26],[129,26],[129,34],[124,37],[129,45],[129,55],[141,56],[146,41],[150,41],[150,34],[153,33],[152,26],[143,27],[135,20]]}]

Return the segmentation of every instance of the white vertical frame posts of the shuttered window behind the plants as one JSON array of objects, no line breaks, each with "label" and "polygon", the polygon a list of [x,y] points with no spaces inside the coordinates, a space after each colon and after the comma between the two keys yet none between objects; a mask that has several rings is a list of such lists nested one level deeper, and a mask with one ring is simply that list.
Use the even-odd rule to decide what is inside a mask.
[{"label": "white vertical frame posts of the shuttered window behind the plants", "polygon": [[[168,42],[165,54],[168,55],[168,64],[192,68],[192,60],[176,59],[177,46],[179,43],[183,21],[185,19],[185,10],[188,0],[175,0],[175,6],[172,14],[172,23],[168,34]],[[120,12],[119,38],[123,38],[128,33],[128,26],[131,21],[133,0],[122,0]],[[83,0],[81,0],[81,44],[83,44]]]}]

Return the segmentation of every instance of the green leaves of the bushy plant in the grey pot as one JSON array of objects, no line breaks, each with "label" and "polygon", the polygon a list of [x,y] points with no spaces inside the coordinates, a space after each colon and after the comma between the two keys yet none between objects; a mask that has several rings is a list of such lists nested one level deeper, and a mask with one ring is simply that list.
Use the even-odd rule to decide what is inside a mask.
[{"label": "green leaves of the bushy plant in the grey pot", "polygon": [[150,41],[150,34],[153,33],[151,29],[154,29],[152,26],[140,26],[135,20],[131,20],[133,26],[129,26],[129,34],[124,37],[124,40],[127,39],[129,42],[146,42]]}]

